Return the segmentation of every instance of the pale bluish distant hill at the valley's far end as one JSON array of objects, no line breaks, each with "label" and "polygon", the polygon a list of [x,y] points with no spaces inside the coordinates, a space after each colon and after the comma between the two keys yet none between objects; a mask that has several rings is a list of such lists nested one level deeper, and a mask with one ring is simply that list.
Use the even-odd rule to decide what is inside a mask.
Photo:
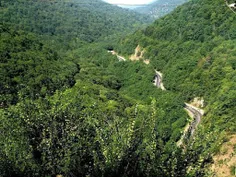
[{"label": "pale bluish distant hill at the valley's far end", "polygon": [[156,0],[151,4],[135,8],[134,10],[154,18],[160,18],[187,1],[188,0]]}]

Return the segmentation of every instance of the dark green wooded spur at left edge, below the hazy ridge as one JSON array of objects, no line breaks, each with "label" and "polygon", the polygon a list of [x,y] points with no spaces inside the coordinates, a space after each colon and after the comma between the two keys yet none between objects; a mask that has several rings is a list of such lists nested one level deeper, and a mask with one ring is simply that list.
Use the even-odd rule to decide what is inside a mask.
[{"label": "dark green wooded spur at left edge, below the hazy ridge", "polygon": [[35,99],[74,85],[79,65],[62,58],[32,33],[4,26],[0,31],[1,107],[17,103],[18,94]]}]

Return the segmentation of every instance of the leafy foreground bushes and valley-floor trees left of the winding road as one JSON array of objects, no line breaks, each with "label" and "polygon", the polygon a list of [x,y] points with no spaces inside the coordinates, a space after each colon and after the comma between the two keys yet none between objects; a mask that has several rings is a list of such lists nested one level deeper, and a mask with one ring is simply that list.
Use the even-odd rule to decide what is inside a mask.
[{"label": "leafy foreground bushes and valley-floor trees left of the winding road", "polygon": [[[3,176],[175,174],[166,163],[186,124],[183,100],[173,93],[161,94],[151,84],[151,71],[149,80],[143,77],[150,69],[142,63],[119,62],[100,44],[68,53],[79,66],[72,88],[45,95],[39,90],[36,98],[20,90],[18,103],[1,110]],[[55,70],[49,64],[44,68]],[[128,75],[132,76],[125,81]],[[25,79],[30,81],[27,75]],[[136,87],[141,83],[150,92],[136,92],[129,82]]]}]

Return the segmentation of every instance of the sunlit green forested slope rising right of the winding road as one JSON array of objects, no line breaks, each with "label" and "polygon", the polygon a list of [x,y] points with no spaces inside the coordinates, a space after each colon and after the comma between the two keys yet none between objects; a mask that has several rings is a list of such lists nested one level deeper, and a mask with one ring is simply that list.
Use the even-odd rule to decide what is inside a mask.
[{"label": "sunlit green forested slope rising right of the winding road", "polygon": [[187,152],[192,151],[187,154],[195,154],[194,159],[187,158],[193,176],[203,175],[211,156],[229,134],[236,133],[235,44],[236,15],[225,2],[193,0],[122,40],[118,50],[131,55],[141,46],[144,57],[163,72],[167,90],[186,101],[204,98],[206,114],[187,146]]}]

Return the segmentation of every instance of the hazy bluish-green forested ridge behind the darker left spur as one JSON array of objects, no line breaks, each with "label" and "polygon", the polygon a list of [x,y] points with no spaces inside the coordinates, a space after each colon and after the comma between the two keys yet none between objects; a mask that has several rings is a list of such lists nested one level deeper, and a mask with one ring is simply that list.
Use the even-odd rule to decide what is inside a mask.
[{"label": "hazy bluish-green forested ridge behind the darker left spur", "polygon": [[1,1],[1,23],[38,34],[63,35],[91,42],[130,32],[148,23],[147,16],[101,0]]}]

